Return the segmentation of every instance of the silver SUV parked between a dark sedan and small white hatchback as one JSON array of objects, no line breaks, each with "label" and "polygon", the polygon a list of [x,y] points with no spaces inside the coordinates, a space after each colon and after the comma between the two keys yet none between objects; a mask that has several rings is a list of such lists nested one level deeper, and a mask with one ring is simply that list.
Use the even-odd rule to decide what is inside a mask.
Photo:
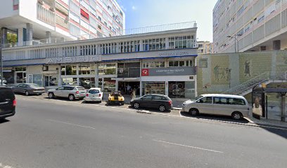
[{"label": "silver SUV parked between a dark sedan and small white hatchback", "polygon": [[56,89],[48,90],[48,97],[67,97],[70,101],[75,99],[84,99],[87,91],[82,86],[63,85]]}]

